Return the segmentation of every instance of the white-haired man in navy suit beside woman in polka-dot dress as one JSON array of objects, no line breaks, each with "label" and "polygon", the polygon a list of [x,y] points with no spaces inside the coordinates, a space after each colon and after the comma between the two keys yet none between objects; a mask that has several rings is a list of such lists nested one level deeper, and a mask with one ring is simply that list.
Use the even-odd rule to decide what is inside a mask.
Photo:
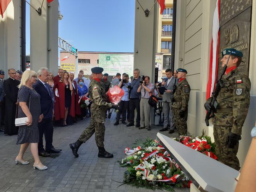
[{"label": "white-haired man in navy suit beside woman in polka-dot dress", "polygon": [[[49,84],[49,71],[47,68],[42,67],[37,72],[38,80],[33,85],[35,91],[40,94],[40,104],[41,104],[41,114],[44,115],[43,120],[38,123],[39,129],[39,143],[38,143],[38,153],[42,157],[48,157],[51,153],[59,153],[61,149],[56,149],[52,145],[53,136],[53,102],[52,93]],[[45,150],[43,145],[43,135],[45,137]]]}]

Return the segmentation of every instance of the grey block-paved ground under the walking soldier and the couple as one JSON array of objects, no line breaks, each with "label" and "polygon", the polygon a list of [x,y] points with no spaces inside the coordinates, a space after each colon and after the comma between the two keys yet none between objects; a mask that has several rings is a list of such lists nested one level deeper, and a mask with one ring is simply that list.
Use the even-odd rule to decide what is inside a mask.
[{"label": "grey block-paved ground under the walking soldier and the couple", "polygon": [[[148,192],[145,188],[130,185],[120,185],[126,168],[116,163],[125,157],[124,149],[132,147],[136,139],[156,138],[161,127],[152,126],[152,131],[138,130],[135,126],[114,126],[115,116],[106,119],[105,148],[113,153],[114,158],[98,158],[98,147],[94,135],[79,148],[79,157],[75,158],[69,148],[69,143],[77,140],[81,132],[89,125],[90,118],[79,120],[76,124],[54,129],[56,148],[62,149],[59,154],[51,157],[40,157],[48,169],[34,170],[34,159],[30,150],[25,153],[29,165],[15,165],[15,157],[19,145],[15,145],[17,135],[5,136],[0,133],[0,192],[4,191],[81,191],[81,192]],[[167,131],[165,135],[170,136]],[[172,134],[173,137],[177,133]],[[117,182],[119,181],[119,182]],[[117,188],[118,187],[118,188]],[[157,190],[155,190],[157,191]],[[158,190],[159,191],[159,190]],[[175,189],[177,192],[189,192],[189,189]]]}]

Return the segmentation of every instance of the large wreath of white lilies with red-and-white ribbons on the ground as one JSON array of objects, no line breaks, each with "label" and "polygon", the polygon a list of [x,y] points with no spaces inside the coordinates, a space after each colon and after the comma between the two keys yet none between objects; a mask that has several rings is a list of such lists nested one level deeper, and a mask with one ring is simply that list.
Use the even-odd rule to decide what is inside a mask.
[{"label": "large wreath of white lilies with red-and-white ribbons on the ground", "polygon": [[189,179],[157,140],[147,139],[137,145],[134,149],[126,148],[128,157],[119,162],[121,167],[127,167],[125,183],[168,191],[173,191],[173,187],[188,187]]}]

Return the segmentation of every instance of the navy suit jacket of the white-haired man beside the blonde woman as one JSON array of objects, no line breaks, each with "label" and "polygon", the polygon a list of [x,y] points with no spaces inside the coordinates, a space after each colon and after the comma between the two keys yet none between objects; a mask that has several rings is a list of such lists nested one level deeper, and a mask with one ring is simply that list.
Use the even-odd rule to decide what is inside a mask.
[{"label": "navy suit jacket of the white-haired man beside the blonde woman", "polygon": [[[40,104],[41,104],[41,114],[44,115],[44,119],[52,118],[52,109],[53,109],[53,101],[52,101],[52,92],[51,88],[48,83],[46,83],[47,89],[45,88],[44,84],[40,80],[33,85],[35,91],[40,94]],[[50,94],[49,94],[50,93]]]}]

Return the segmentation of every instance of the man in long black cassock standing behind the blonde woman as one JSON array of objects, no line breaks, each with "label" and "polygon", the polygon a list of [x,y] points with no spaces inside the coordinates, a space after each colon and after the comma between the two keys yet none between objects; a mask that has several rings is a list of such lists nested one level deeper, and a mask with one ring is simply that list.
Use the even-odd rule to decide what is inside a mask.
[{"label": "man in long black cassock standing behind the blonde woman", "polygon": [[15,79],[15,69],[8,69],[10,78],[3,81],[3,90],[6,94],[5,97],[5,134],[17,135],[18,127],[15,126],[17,97],[19,88],[17,87],[20,82]]}]

